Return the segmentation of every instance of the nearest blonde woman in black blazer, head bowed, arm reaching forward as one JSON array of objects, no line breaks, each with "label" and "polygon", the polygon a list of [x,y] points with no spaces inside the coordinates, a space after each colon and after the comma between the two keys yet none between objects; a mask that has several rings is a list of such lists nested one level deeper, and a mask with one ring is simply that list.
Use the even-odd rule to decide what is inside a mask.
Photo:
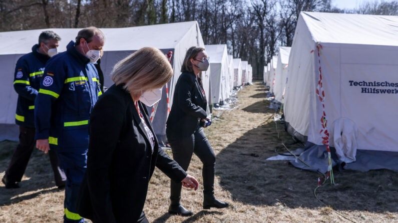
[{"label": "nearest blonde woman in black blazer, head bowed, arm reaching forward", "polygon": [[90,118],[87,171],[79,214],[94,223],[147,223],[142,212],[155,166],[173,181],[197,189],[198,182],[158,145],[148,111],[173,71],[158,49],[145,47],[115,65],[111,86]]}]

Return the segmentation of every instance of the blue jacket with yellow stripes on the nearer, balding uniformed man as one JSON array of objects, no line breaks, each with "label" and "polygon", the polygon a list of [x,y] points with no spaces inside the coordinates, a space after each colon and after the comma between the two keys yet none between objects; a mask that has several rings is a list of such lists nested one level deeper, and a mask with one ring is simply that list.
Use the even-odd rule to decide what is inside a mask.
[{"label": "blue jacket with yellow stripes on the nearer, balding uniformed man", "polygon": [[96,67],[71,41],[46,64],[35,101],[36,139],[48,138],[61,152],[87,150],[90,113],[100,95]]}]

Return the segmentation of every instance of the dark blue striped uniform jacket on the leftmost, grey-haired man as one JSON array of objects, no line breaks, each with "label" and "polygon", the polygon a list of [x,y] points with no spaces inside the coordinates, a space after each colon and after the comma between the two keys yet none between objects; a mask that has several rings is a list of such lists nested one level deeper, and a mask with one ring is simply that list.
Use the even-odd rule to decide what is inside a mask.
[{"label": "dark blue striped uniform jacket on the leftmost, grey-haired man", "polygon": [[32,47],[32,52],[18,59],[14,73],[14,89],[18,93],[15,123],[26,127],[35,127],[35,99],[39,92],[44,66],[50,59],[39,53],[39,45]]}]

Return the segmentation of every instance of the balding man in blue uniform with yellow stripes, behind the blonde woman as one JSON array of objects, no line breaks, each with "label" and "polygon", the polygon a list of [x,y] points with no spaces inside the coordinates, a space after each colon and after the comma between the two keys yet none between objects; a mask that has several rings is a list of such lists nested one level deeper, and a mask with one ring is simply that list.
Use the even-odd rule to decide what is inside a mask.
[{"label": "balding man in blue uniform with yellow stripes, behind the blonde woman", "polygon": [[55,150],[67,176],[64,223],[85,222],[77,214],[76,199],[87,167],[89,117],[101,95],[94,63],[104,43],[100,29],[80,30],[76,43],[47,62],[35,101],[37,147]]}]

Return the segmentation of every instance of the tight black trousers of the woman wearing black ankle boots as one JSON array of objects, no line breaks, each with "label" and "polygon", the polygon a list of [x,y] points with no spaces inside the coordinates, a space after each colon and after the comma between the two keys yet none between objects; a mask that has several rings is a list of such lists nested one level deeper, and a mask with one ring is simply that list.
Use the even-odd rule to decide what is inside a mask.
[{"label": "tight black trousers of the woman wearing black ankle boots", "polygon": [[[212,194],[214,192],[214,166],[216,164],[216,156],[210,146],[203,128],[198,127],[196,131],[182,139],[169,139],[171,150],[173,152],[173,159],[187,171],[189,163],[191,162],[192,154],[196,156],[203,163],[203,192],[205,194]],[[181,183],[171,181],[170,199],[178,200],[181,197]]]}]

